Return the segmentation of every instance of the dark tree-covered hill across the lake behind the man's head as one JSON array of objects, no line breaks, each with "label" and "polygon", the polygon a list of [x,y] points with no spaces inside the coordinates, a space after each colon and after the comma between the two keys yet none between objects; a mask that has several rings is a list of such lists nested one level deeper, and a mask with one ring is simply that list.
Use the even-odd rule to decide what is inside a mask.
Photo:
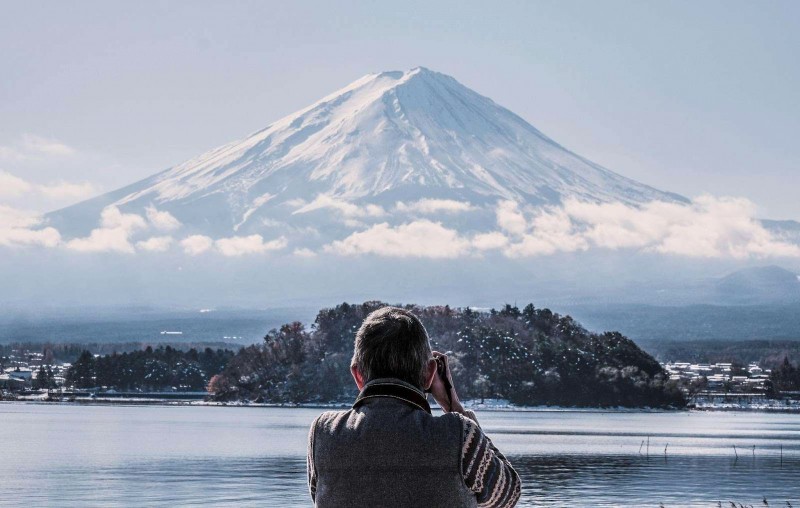
[{"label": "dark tree-covered hill across the lake behind the man's head", "polygon": [[[347,303],[294,322],[241,349],[209,383],[217,400],[331,402],[354,397],[353,339],[381,302]],[[532,304],[476,312],[408,305],[433,347],[448,352],[463,399],[526,405],[682,407],[685,398],[649,354],[617,332],[590,333]]]}]

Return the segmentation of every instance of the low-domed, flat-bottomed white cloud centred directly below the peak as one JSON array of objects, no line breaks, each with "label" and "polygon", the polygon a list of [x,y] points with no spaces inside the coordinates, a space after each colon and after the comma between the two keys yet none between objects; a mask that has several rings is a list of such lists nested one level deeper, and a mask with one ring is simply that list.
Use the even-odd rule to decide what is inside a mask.
[{"label": "low-domed, flat-bottomed white cloud centred directly below the peak", "polygon": [[392,227],[387,223],[353,233],[324,247],[326,252],[354,256],[456,258],[469,253],[469,241],[441,223],[419,220]]}]

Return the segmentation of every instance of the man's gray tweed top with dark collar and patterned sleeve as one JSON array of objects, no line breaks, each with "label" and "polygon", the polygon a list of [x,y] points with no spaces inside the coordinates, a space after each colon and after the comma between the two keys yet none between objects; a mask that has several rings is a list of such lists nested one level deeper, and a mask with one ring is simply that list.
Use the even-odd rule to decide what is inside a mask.
[{"label": "man's gray tweed top with dark collar and patterned sleeve", "polygon": [[312,424],[308,485],[319,508],[514,506],[520,480],[474,413],[433,416],[399,379],[364,386],[353,408]]}]

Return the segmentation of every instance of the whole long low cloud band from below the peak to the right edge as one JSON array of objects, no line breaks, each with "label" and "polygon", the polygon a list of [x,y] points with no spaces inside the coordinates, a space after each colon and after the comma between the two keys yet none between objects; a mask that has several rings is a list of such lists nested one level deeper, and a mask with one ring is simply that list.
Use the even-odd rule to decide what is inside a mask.
[{"label": "whole long low cloud band from below the peak to the right edge", "polygon": [[593,248],[635,250],[692,258],[800,257],[800,246],[779,238],[742,198],[701,196],[690,204],[654,201],[641,206],[567,200],[562,206],[495,207],[497,230],[469,235],[439,222],[374,225],[332,242],[340,255],[453,258],[499,251],[510,258]]}]

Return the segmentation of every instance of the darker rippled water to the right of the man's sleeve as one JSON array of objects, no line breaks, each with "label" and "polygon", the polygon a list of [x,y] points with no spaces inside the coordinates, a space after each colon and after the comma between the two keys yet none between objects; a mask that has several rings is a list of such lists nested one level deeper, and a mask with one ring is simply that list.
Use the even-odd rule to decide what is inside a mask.
[{"label": "darker rippled water to the right of the man's sleeve", "polygon": [[514,456],[523,506],[800,505],[800,461],[775,457]]}]

